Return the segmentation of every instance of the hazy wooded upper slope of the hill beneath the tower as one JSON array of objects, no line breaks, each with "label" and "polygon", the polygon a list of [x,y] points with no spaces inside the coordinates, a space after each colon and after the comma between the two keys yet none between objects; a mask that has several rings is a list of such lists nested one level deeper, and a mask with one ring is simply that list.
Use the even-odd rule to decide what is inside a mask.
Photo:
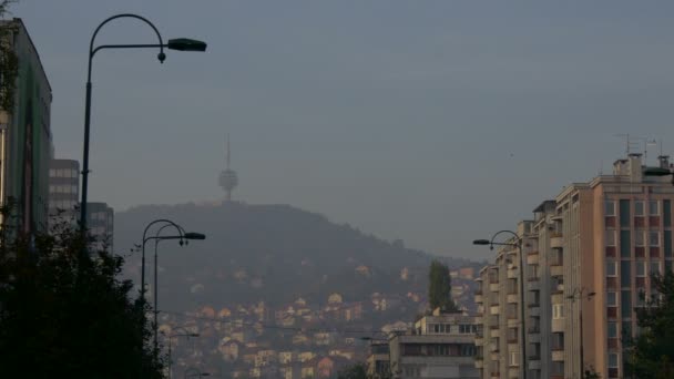
[{"label": "hazy wooded upper slope of the hill beneath the tower", "polygon": [[[160,244],[161,298],[175,309],[233,301],[280,304],[299,296],[320,301],[333,291],[345,300],[366,299],[376,291],[426,293],[432,256],[287,205],[135,207],[115,216],[115,252],[127,255],[140,244],[145,225],[157,218],[207,236],[182,247],[175,240]],[[149,243],[149,283],[153,250]],[[450,267],[467,264],[443,260]],[[126,267],[134,279],[139,266],[140,254],[133,253]],[[409,272],[406,278],[400,275],[404,268]]]}]

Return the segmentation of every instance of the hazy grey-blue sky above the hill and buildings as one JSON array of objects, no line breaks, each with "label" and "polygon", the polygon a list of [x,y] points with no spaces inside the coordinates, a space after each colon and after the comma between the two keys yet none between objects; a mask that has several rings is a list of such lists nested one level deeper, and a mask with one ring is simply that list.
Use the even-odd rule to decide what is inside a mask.
[{"label": "hazy grey-blue sky above the hill and buildings", "polygon": [[96,55],[90,198],[116,211],[222,198],[228,132],[237,199],[482,258],[473,238],[609,172],[615,134],[674,152],[672,1],[21,0],[58,157],[81,160],[89,39],[119,12],[208,51]]}]

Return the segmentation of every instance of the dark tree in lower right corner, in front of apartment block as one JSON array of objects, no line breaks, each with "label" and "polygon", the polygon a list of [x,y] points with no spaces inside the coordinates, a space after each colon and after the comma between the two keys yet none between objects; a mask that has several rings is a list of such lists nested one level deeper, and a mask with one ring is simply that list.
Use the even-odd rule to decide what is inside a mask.
[{"label": "dark tree in lower right corner, in front of apartment block", "polygon": [[624,341],[625,368],[636,378],[674,378],[674,274],[667,269],[651,280],[654,295],[636,308],[641,332]]}]

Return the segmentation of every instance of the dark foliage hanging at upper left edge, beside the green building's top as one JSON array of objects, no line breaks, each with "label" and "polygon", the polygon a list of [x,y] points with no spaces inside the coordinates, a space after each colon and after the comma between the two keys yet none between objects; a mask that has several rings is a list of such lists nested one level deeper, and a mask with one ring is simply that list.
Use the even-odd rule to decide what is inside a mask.
[{"label": "dark foliage hanging at upper left edge, beside the green building's top", "polygon": [[[0,0],[0,20],[8,12],[14,0]],[[10,111],[14,107],[14,86],[19,74],[19,59],[8,37],[9,27],[0,27],[0,109]]]}]

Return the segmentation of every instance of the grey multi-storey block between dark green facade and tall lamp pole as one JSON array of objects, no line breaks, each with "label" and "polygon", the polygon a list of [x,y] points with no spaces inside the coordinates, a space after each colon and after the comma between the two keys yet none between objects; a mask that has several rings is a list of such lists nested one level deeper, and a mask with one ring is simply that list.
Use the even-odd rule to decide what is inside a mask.
[{"label": "grey multi-storey block between dark green facade and tall lamp pole", "polygon": [[49,225],[76,225],[80,199],[80,163],[51,160],[49,166]]}]

